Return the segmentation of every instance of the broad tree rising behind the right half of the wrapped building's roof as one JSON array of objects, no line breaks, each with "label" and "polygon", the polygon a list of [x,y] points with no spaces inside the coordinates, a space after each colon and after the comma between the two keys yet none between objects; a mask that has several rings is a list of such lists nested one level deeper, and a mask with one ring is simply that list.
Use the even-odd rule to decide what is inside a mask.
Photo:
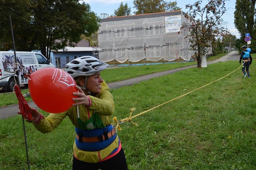
[{"label": "broad tree rising behind the right half of the wrapped building's roof", "polygon": [[134,8],[137,10],[134,14],[157,13],[172,10],[180,10],[177,7],[177,2],[166,2],[164,0],[134,0]]}]

